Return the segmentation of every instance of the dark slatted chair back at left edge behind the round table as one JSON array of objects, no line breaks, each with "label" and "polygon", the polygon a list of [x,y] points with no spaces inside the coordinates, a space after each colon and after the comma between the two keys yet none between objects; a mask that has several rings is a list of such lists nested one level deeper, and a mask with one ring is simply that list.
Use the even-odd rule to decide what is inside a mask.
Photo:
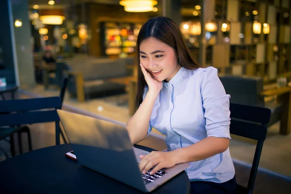
[{"label": "dark slatted chair back at left edge behind the round table", "polygon": [[[11,130],[13,132],[13,128],[11,128],[11,126],[55,122],[56,145],[59,145],[60,119],[56,110],[60,107],[60,97],[2,100],[0,101],[1,130],[8,126],[9,128],[7,128],[7,130]],[[7,131],[7,133],[8,132],[9,131]]]}]

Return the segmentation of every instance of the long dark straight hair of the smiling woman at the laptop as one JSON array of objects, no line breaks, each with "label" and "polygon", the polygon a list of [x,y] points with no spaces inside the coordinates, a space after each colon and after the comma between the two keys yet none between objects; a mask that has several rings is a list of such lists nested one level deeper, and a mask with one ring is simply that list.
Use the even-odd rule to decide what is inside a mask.
[{"label": "long dark straight hair of the smiling woman at the laptop", "polygon": [[137,36],[137,65],[138,65],[138,81],[137,95],[135,99],[135,108],[138,109],[143,101],[144,88],[147,85],[144,74],[140,67],[140,45],[143,40],[154,37],[175,49],[178,56],[178,64],[185,69],[196,69],[200,65],[194,61],[190,55],[190,51],[186,46],[182,33],[177,24],[168,17],[153,17],[149,19],[141,28]]}]

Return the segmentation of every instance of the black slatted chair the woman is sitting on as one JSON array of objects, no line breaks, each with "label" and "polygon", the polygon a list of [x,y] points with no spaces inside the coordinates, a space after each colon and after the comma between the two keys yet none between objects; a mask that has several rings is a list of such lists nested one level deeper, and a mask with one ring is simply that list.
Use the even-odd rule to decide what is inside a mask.
[{"label": "black slatted chair the woman is sitting on", "polygon": [[230,133],[258,141],[247,188],[237,185],[238,194],[251,194],[254,189],[264,140],[267,136],[267,125],[270,121],[271,110],[234,103],[230,103],[229,109]]}]

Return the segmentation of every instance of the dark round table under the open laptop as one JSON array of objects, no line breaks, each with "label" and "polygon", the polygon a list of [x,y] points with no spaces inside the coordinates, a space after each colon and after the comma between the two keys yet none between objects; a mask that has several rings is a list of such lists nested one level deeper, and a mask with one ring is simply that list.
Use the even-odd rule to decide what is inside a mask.
[{"label": "dark round table under the open laptop", "polygon": [[[69,144],[51,146],[0,162],[0,193],[143,193],[68,159],[65,153],[71,150]],[[189,194],[190,189],[190,181],[183,171],[152,193]]]}]

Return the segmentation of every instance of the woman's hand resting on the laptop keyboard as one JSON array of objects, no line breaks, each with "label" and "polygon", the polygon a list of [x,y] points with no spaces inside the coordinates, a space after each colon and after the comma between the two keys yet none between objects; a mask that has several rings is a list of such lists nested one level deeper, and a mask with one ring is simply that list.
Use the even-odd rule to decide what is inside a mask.
[{"label": "woman's hand resting on the laptop keyboard", "polygon": [[149,173],[150,175],[153,175],[162,168],[170,168],[174,166],[176,164],[176,156],[174,154],[173,151],[152,151],[146,156],[141,155],[140,158],[142,160],[139,163],[139,168],[143,174],[146,174],[149,169],[155,166]]}]

